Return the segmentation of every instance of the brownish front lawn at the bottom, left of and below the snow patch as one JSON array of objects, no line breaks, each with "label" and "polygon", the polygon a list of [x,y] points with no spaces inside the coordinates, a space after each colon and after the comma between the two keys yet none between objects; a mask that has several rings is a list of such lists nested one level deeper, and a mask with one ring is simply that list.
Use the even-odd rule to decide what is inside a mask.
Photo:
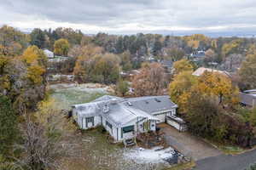
[{"label": "brownish front lawn at the bottom, left of and below the snow patch", "polygon": [[[77,144],[78,155],[63,160],[61,170],[162,170],[166,163],[133,161],[125,156],[132,148],[125,149],[123,144],[113,144],[108,133],[100,128],[76,133],[70,143]],[[169,170],[169,169],[168,169]]]}]

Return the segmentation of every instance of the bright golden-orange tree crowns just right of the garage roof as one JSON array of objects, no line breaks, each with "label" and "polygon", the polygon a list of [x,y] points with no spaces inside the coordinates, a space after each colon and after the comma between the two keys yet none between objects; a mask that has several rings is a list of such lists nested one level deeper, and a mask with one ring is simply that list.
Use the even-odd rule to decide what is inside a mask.
[{"label": "bright golden-orange tree crowns just right of the garage roof", "polygon": [[229,77],[205,71],[201,77],[195,77],[192,72],[183,71],[174,77],[169,85],[169,94],[180,105],[180,111],[186,113],[190,109],[186,105],[193,91],[202,95],[212,96],[219,105],[232,106],[238,103],[239,90],[233,86]]}]

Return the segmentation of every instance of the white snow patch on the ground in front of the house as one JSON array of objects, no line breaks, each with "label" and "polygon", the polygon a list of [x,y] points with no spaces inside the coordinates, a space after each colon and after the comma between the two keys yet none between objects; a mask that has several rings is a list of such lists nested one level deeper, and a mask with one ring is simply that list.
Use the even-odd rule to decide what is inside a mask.
[{"label": "white snow patch on the ground in front of the house", "polygon": [[166,149],[161,148],[161,146],[152,149],[135,148],[125,152],[124,156],[137,163],[161,163],[165,162],[164,159],[171,158],[175,153],[172,147]]}]

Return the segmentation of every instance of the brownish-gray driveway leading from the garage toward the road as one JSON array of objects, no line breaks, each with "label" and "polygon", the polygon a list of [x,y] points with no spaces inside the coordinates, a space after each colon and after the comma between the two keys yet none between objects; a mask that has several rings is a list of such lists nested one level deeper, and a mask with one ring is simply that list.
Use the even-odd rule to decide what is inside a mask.
[{"label": "brownish-gray driveway leading from the garage toward the road", "polygon": [[200,138],[188,132],[180,133],[177,129],[161,123],[161,131],[165,133],[165,139],[174,149],[181,152],[184,156],[192,157],[195,161],[212,156],[220,156],[222,152],[206,143]]}]

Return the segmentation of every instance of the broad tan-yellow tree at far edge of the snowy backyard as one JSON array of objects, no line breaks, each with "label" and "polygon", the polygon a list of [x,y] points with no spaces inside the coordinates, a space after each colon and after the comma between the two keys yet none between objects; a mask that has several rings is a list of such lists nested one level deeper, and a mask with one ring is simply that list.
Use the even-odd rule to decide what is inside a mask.
[{"label": "broad tan-yellow tree at far edge of the snowy backyard", "polygon": [[113,83],[119,79],[119,64],[116,54],[104,53],[102,48],[87,45],[83,47],[73,73],[79,82]]}]

